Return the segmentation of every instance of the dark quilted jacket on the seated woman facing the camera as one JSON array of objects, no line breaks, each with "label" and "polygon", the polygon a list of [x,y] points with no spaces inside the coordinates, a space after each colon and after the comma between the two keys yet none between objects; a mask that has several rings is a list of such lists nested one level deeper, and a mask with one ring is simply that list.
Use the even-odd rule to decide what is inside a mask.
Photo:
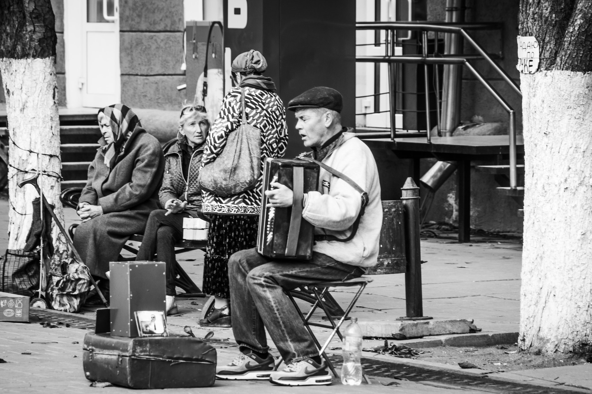
[{"label": "dark quilted jacket on the seated woman facing the camera", "polygon": [[201,211],[201,189],[198,187],[197,177],[200,175],[201,157],[204,149],[203,146],[200,146],[191,154],[187,178],[185,178],[182,155],[188,152],[183,152],[180,144],[180,142],[176,142],[165,155],[166,167],[159,193],[160,205],[164,207],[166,201],[171,198],[179,198],[179,200],[187,201],[185,210],[200,209]]}]

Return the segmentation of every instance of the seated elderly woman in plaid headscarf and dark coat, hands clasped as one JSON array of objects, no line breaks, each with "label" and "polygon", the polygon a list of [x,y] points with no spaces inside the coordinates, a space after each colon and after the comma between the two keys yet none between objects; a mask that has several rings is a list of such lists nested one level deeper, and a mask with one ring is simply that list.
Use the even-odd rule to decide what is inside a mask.
[{"label": "seated elderly woman in plaid headscarf and dark coat, hands clasped", "polygon": [[101,108],[97,117],[101,147],[79,199],[82,224],[74,246],[91,274],[101,279],[99,288],[108,293],[109,262],[118,261],[129,237],[143,233],[150,212],[159,208],[165,160],[158,140],[141,128],[127,106]]}]

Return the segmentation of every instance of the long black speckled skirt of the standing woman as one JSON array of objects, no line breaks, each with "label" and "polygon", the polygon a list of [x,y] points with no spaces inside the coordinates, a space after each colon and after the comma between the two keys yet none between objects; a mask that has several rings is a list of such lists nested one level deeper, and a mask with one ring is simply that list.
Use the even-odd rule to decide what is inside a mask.
[{"label": "long black speckled skirt of the standing woman", "polygon": [[259,216],[210,214],[205,249],[205,294],[230,299],[228,259],[233,253],[257,246]]}]

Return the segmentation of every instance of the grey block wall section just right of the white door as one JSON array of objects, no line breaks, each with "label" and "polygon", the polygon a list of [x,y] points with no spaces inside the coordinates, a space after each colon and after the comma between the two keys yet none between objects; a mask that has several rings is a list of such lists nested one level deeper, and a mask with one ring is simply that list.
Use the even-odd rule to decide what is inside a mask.
[{"label": "grey block wall section just right of the white door", "polygon": [[121,101],[178,110],[185,92],[183,0],[120,0]]}]

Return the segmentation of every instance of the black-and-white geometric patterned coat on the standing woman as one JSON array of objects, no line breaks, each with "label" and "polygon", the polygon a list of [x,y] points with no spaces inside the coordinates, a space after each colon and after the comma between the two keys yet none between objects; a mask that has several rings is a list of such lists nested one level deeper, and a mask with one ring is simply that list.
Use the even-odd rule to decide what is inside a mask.
[{"label": "black-and-white geometric patterned coat on the standing woman", "polygon": [[[244,108],[247,123],[261,131],[261,162],[266,158],[284,156],[288,143],[286,111],[278,95],[254,87],[243,87]],[[226,145],[230,132],[240,126],[240,87],[235,87],[224,97],[222,109],[205,141],[202,165],[214,161]],[[263,167],[262,167],[263,168]],[[234,196],[220,197],[203,192],[203,213],[230,215],[259,215],[261,207],[263,172],[256,187]]]}]

